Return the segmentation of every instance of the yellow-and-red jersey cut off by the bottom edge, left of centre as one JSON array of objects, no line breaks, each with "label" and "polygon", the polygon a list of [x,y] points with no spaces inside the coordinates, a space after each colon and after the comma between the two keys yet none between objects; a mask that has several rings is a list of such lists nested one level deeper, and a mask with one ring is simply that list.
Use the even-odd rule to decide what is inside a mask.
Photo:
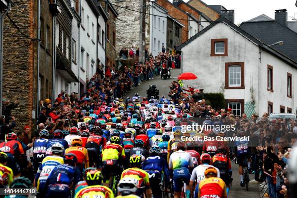
[{"label": "yellow-and-red jersey cut off by the bottom edge, left of centre", "polygon": [[115,198],[113,191],[103,185],[86,186],[74,198]]}]

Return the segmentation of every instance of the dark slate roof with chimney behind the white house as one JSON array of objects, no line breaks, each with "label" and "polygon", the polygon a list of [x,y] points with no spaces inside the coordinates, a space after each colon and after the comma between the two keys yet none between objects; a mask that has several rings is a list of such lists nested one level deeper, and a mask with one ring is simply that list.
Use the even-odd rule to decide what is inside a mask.
[{"label": "dark slate roof with chimney behind the white house", "polygon": [[275,20],[243,22],[240,28],[266,44],[283,41],[281,46],[272,46],[292,60],[297,61],[297,33]]}]

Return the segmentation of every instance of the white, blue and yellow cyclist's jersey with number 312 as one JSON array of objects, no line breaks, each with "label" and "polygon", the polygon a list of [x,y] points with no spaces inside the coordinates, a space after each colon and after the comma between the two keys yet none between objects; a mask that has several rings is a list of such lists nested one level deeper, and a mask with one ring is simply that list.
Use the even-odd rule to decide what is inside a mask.
[{"label": "white, blue and yellow cyclist's jersey with number 312", "polygon": [[45,182],[49,178],[49,174],[57,165],[63,165],[64,158],[60,156],[47,156],[42,160],[41,165],[38,167],[36,179],[37,182],[37,190],[39,188],[39,184],[41,181]]}]

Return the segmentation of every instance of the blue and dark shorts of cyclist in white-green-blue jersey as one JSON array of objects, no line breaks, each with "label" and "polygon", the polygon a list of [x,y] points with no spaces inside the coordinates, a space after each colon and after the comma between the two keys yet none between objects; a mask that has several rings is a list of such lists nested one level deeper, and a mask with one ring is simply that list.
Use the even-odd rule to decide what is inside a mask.
[{"label": "blue and dark shorts of cyclist in white-green-blue jersey", "polygon": [[190,173],[188,168],[177,168],[173,170],[173,190],[174,192],[181,192],[181,187],[183,182],[189,185],[190,182]]}]

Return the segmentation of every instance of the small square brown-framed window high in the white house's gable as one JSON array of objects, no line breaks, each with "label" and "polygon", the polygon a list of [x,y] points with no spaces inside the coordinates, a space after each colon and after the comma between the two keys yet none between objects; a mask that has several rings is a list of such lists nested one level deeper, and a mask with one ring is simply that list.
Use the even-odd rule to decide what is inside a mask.
[{"label": "small square brown-framed window high in the white house's gable", "polygon": [[228,56],[228,39],[211,40],[211,56]]}]

